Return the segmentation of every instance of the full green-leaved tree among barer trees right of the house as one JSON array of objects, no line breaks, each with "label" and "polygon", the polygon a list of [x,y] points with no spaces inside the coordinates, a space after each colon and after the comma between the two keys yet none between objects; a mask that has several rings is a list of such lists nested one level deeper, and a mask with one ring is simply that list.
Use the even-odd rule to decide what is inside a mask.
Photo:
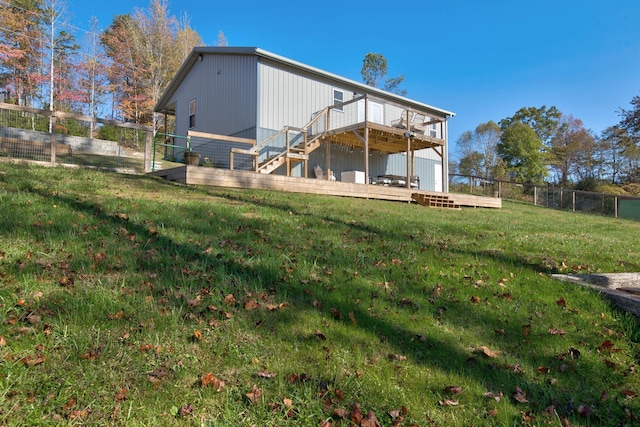
[{"label": "full green-leaved tree among barer trees right of the house", "polygon": [[528,184],[541,184],[547,175],[543,144],[536,132],[521,121],[503,130],[497,152],[511,179]]}]

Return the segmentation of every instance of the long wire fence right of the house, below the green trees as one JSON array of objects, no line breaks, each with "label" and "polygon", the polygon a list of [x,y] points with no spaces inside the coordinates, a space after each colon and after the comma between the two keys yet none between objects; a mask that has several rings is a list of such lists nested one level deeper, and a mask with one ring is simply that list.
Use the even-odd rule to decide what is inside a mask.
[{"label": "long wire fence right of the house, below the green trees", "polygon": [[469,175],[449,175],[449,190],[500,197],[571,212],[640,220],[640,197],[519,184]]}]

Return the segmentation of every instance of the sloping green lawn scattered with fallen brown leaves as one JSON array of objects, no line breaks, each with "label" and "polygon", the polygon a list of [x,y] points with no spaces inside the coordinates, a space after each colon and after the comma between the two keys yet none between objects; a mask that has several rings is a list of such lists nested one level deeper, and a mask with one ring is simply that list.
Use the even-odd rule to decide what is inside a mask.
[{"label": "sloping green lawn scattered with fallen brown leaves", "polygon": [[638,323],[549,278],[640,271],[637,222],[9,164],[0,222],[2,425],[640,417]]}]

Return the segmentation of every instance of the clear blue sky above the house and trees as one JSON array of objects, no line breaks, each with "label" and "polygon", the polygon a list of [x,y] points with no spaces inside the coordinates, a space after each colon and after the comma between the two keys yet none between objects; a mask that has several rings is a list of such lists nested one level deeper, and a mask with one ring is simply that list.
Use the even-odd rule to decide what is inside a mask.
[{"label": "clear blue sky above the house and trees", "polygon": [[[148,0],[95,7],[67,0],[69,22],[102,28]],[[521,107],[556,106],[600,134],[640,95],[640,0],[169,0],[205,44],[223,31],[231,46],[256,46],[361,81],[367,52],[417,101],[456,113],[455,141]],[[81,39],[81,31],[76,31]]]}]

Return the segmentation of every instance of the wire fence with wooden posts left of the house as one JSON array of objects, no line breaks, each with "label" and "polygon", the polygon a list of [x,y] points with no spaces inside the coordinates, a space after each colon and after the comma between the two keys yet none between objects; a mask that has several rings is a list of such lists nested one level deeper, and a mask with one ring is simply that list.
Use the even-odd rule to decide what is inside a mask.
[{"label": "wire fence with wooden posts left of the house", "polygon": [[0,103],[0,158],[143,173],[152,136],[149,126]]}]

